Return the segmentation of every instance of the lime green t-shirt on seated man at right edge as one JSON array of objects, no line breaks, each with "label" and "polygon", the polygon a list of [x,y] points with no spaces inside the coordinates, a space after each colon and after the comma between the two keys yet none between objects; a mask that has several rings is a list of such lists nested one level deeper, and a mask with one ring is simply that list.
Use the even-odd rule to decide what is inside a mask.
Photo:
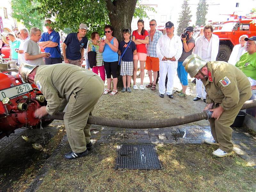
[{"label": "lime green t-shirt on seated man at right edge", "polygon": [[249,55],[249,53],[244,53],[240,57],[240,60],[236,62],[236,67],[247,77],[256,80],[256,52],[251,55]]}]

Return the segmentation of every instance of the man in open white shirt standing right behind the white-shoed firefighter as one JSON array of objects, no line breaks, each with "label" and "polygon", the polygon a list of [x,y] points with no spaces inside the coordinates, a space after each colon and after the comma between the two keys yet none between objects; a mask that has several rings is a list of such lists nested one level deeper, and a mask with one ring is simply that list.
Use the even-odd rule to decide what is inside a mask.
[{"label": "man in open white shirt standing right behind the white-shoed firefighter", "polygon": [[[220,39],[217,35],[214,35],[212,33],[212,25],[205,25],[204,35],[198,37],[194,48],[194,53],[206,61],[216,61],[219,52]],[[202,81],[200,79],[196,79],[196,97],[193,100],[201,100],[201,98],[203,97],[203,100],[206,103],[206,92],[204,86],[203,88],[202,86]]]}]

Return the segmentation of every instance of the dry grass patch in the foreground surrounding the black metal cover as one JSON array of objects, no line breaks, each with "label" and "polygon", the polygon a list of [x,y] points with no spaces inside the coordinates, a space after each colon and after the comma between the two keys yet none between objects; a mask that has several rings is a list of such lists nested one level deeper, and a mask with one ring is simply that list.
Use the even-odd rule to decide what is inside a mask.
[{"label": "dry grass patch in the foreground surrounding the black metal cover", "polygon": [[[216,146],[158,145],[163,170],[114,170],[116,144],[60,160],[37,191],[255,191],[256,170],[235,154],[212,157]],[[64,151],[63,151],[64,152]]]}]

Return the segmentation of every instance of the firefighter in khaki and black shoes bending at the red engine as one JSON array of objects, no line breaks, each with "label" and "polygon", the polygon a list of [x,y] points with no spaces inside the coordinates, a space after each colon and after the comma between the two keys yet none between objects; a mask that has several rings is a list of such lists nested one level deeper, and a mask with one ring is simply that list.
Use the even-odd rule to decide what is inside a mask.
[{"label": "firefighter in khaki and black shoes bending at the red engine", "polygon": [[72,151],[64,157],[74,159],[87,155],[93,148],[91,124],[87,119],[104,91],[101,78],[90,70],[67,63],[42,66],[22,63],[19,74],[24,82],[34,83],[47,100],[47,106],[38,108],[35,117],[53,115],[63,100],[68,103],[64,124]]}]

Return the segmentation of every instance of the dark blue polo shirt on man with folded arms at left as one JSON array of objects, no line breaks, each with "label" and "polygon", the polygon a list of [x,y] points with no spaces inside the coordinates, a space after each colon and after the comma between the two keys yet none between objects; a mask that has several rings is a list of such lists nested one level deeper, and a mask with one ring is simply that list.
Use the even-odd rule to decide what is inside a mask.
[{"label": "dark blue polo shirt on man with folded arms at left", "polygon": [[51,54],[51,58],[60,58],[60,34],[59,32],[56,32],[52,30],[52,33],[49,34],[48,32],[44,32],[41,36],[41,39],[39,42],[43,41],[52,41],[54,43],[57,43],[58,45],[56,47],[45,47],[44,51],[46,53]]}]

